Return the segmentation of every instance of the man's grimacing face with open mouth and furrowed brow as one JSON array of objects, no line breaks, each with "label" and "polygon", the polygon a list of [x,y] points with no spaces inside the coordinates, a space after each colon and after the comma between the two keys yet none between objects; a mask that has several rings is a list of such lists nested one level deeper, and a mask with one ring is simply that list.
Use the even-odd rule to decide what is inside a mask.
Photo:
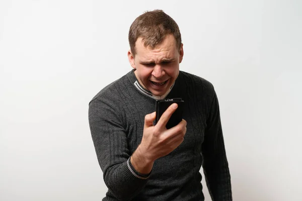
[{"label": "man's grimacing face with open mouth and furrowed brow", "polygon": [[154,95],[164,95],[176,80],[183,58],[183,45],[176,47],[173,35],[168,35],[154,49],[144,47],[142,38],[135,43],[136,55],[128,51],[131,66],[136,69],[139,83]]}]

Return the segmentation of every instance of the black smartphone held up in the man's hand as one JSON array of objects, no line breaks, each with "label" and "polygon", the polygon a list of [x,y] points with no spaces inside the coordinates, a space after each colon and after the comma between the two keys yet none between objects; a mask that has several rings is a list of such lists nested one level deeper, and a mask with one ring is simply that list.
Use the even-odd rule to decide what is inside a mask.
[{"label": "black smartphone held up in the man's hand", "polygon": [[169,106],[171,106],[174,103],[176,103],[178,105],[178,108],[172,114],[171,118],[169,119],[169,121],[166,125],[166,128],[170,129],[170,128],[178,125],[182,121],[184,101],[181,98],[172,98],[172,99],[163,99],[163,100],[156,101],[156,103],[155,103],[155,107],[156,107],[155,124],[158,123],[158,121],[162,117],[163,113],[169,108]]}]

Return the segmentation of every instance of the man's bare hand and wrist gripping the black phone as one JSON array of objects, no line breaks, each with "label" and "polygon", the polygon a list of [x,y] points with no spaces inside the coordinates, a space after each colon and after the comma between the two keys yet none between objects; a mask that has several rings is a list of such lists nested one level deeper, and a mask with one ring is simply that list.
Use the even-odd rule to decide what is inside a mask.
[{"label": "man's bare hand and wrist gripping the black phone", "polygon": [[131,156],[131,164],[139,173],[148,174],[156,159],[171,153],[183,142],[187,130],[185,120],[171,129],[166,129],[166,124],[176,109],[177,104],[172,104],[156,126],[153,125],[155,112],[145,116],[141,143]]}]

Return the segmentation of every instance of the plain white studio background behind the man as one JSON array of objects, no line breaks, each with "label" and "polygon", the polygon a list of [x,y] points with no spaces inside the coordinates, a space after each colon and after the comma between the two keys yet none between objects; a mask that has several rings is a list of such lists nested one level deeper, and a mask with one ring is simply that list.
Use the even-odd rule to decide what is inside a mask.
[{"label": "plain white studio background behind the man", "polygon": [[105,196],[88,103],[131,70],[129,27],[154,9],[180,27],[181,70],[215,86],[234,200],[301,200],[298,0],[2,0],[0,200]]}]

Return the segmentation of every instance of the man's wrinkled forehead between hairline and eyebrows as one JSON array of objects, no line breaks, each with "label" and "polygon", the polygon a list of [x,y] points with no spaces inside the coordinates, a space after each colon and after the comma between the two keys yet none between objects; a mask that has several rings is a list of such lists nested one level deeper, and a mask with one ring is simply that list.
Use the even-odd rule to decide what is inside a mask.
[{"label": "man's wrinkled forehead between hairline and eyebrows", "polygon": [[139,37],[135,43],[136,49],[136,57],[140,59],[161,59],[165,58],[173,58],[176,55],[177,45],[176,40],[173,35],[167,35],[166,38],[155,48],[145,47],[143,38]]}]

